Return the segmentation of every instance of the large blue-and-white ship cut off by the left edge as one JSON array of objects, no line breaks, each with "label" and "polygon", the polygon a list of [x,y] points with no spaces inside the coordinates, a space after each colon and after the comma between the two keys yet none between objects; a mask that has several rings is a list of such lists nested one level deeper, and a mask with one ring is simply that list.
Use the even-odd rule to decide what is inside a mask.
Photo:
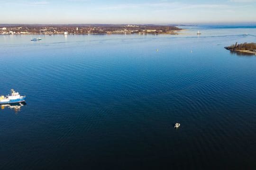
[{"label": "large blue-and-white ship cut off by the left edge", "polygon": [[0,96],[0,104],[10,104],[10,103],[19,103],[25,102],[26,96],[21,96],[18,92],[15,92],[11,89],[11,95],[8,96]]}]

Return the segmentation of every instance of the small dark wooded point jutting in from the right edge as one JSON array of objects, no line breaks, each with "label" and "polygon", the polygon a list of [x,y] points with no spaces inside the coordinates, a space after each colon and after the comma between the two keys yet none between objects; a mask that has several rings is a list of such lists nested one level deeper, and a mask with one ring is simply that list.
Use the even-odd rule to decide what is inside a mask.
[{"label": "small dark wooded point jutting in from the right edge", "polygon": [[250,43],[244,42],[240,44],[236,42],[236,44],[225,47],[225,49],[229,51],[234,51],[234,52],[240,52],[240,53],[245,52],[245,53],[251,53],[256,55],[256,43],[254,42],[250,42]]}]

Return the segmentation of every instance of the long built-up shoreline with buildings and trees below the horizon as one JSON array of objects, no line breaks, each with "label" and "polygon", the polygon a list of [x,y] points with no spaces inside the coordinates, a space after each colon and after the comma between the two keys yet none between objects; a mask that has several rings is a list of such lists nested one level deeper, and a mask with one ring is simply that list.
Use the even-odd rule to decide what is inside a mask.
[{"label": "long built-up shoreline with buildings and trees below the horizon", "polygon": [[182,30],[170,25],[20,25],[0,24],[0,34],[178,34]]}]

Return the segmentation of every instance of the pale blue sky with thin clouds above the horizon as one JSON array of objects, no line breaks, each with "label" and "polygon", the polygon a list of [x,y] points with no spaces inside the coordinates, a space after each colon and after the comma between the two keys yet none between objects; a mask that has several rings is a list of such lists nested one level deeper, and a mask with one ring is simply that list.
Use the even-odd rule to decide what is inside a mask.
[{"label": "pale blue sky with thin clouds above the horizon", "polygon": [[0,0],[1,24],[256,22],[256,0]]}]

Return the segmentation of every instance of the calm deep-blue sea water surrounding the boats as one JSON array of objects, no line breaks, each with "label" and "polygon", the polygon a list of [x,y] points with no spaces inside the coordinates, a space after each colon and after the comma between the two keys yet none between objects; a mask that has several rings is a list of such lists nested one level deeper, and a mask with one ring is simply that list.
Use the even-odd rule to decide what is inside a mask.
[{"label": "calm deep-blue sea water surrounding the boats", "polygon": [[184,28],[0,35],[0,169],[255,169],[256,27]]}]

